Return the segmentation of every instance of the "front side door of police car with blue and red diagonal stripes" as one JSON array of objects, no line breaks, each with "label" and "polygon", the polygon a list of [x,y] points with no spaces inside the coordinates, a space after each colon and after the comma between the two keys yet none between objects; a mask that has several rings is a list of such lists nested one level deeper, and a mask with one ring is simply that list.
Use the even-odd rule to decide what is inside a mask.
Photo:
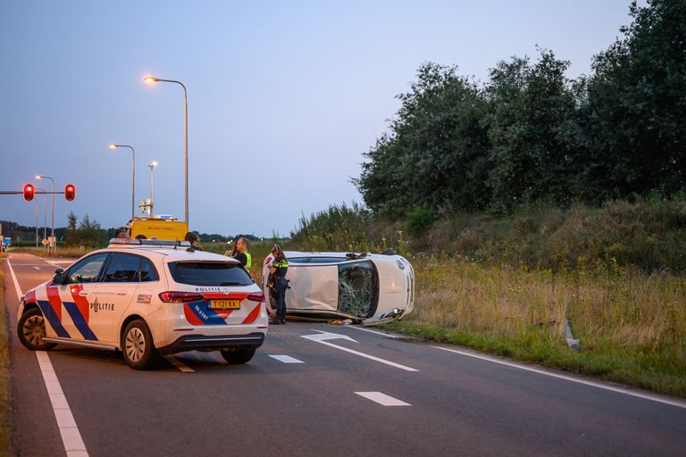
[{"label": "front side door of police car with blue and red diagonal stripes", "polygon": [[50,303],[62,302],[62,306],[51,306],[50,312],[59,314],[54,317],[62,322],[65,337],[98,341],[90,325],[89,300],[109,256],[110,253],[88,255],[71,266],[62,284],[47,287]]}]

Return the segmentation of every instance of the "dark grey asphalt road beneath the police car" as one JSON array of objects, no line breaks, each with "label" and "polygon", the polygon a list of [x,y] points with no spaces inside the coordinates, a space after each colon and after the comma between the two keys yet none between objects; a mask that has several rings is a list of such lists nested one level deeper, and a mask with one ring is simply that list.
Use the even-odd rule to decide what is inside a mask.
[{"label": "dark grey asphalt road beneath the police car", "polygon": [[[54,270],[26,254],[10,262],[22,291]],[[48,356],[90,456],[686,453],[682,400],[440,347],[289,322],[243,366],[218,353],[178,354],[152,371],[116,353],[58,346]],[[11,353],[14,452],[65,455],[36,354],[14,335]]]}]

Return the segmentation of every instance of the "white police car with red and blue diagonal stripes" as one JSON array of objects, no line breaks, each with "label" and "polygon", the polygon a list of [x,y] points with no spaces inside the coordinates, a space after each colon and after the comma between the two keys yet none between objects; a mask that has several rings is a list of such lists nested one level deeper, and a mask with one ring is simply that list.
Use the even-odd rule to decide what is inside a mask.
[{"label": "white police car with red and blue diagonal stripes", "polygon": [[238,261],[187,242],[124,238],[29,290],[17,334],[35,351],[58,343],[118,349],[140,370],[160,354],[190,350],[245,363],[267,325],[264,295]]}]

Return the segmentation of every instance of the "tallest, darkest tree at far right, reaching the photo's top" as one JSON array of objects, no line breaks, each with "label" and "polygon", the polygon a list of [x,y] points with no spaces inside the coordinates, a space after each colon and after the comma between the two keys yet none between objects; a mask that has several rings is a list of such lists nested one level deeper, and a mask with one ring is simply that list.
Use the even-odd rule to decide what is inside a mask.
[{"label": "tallest, darkest tree at far right, reaching the photo's top", "polygon": [[630,12],[623,37],[593,62],[584,106],[596,199],[684,188],[686,3],[633,2]]}]

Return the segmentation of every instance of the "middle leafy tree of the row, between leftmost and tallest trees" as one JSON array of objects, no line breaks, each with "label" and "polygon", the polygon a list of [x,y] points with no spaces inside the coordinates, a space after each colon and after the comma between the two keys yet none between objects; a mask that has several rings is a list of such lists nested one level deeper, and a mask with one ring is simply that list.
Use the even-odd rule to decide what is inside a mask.
[{"label": "middle leafy tree of the row, between leftmost and tallest trees", "polygon": [[542,51],[540,60],[513,58],[490,71],[486,88],[490,205],[510,211],[537,200],[567,204],[575,195],[575,165],[582,152],[569,62]]}]

